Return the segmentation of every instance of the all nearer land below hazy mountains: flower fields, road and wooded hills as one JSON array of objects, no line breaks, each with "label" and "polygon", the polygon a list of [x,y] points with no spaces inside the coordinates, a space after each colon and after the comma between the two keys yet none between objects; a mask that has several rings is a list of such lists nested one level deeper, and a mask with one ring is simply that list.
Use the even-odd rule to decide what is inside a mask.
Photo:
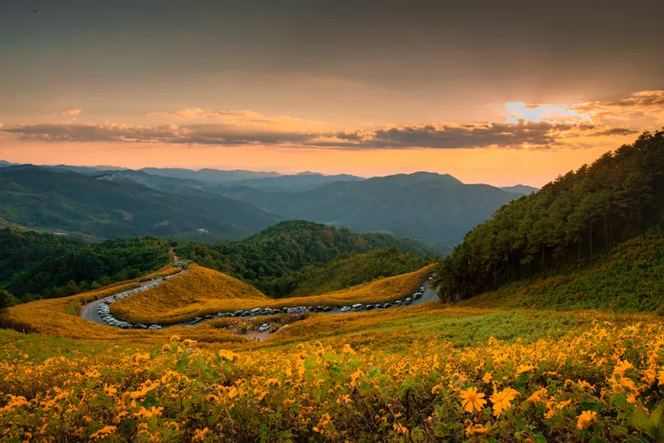
[{"label": "all nearer land below hazy mountains: flower fields, road and wooded hills", "polygon": [[444,257],[312,221],[212,245],[4,229],[3,436],[656,441],[662,136],[502,206]]}]

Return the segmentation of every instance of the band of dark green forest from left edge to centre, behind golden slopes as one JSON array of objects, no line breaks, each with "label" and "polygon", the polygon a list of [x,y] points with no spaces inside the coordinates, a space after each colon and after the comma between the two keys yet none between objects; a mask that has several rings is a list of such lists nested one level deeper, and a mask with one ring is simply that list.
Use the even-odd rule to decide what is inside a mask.
[{"label": "band of dark green forest from left edge to centre, behind golden slopes", "polygon": [[[374,275],[409,272],[429,262],[421,257],[434,255],[429,246],[417,240],[354,234],[348,229],[308,221],[285,221],[241,242],[216,245],[182,244],[158,237],[89,244],[71,237],[0,229],[0,291],[7,291],[18,301],[73,295],[156,270],[168,263],[169,249],[175,247],[181,258],[239,277],[266,293],[284,296],[294,290],[300,271],[306,267],[349,253],[391,246],[398,249],[390,250],[390,257],[378,260],[378,256],[372,256],[354,269],[355,273],[363,269],[366,276],[354,276],[351,280],[370,281]],[[313,277],[317,271],[307,272]]]}]

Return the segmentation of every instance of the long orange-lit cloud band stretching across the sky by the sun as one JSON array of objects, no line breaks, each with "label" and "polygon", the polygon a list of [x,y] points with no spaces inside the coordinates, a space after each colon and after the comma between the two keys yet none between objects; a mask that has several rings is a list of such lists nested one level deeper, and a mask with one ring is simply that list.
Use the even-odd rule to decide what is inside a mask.
[{"label": "long orange-lit cloud band stretching across the sky by the sun", "polygon": [[613,102],[596,101],[569,106],[512,102],[506,104],[506,109],[511,117],[502,122],[446,122],[334,131],[317,127],[320,122],[289,116],[267,117],[253,111],[212,112],[190,108],[149,114],[180,120],[179,124],[148,127],[113,122],[64,121],[5,128],[2,132],[34,141],[218,146],[253,144],[338,150],[545,150],[561,146],[581,149],[597,146],[598,142],[592,140],[599,137],[630,136],[647,128],[635,124],[633,119],[612,121],[608,116],[647,114],[659,118],[664,113],[664,91],[642,91]]}]

